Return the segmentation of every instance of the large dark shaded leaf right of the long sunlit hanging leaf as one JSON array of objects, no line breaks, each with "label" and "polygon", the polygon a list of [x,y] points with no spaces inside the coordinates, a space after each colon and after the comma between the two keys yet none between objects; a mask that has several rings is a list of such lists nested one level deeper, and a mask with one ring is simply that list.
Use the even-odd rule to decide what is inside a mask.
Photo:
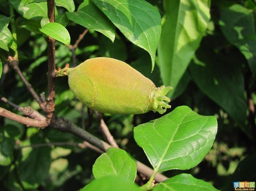
[{"label": "large dark shaded leaf right of the long sunlit hanging leaf", "polygon": [[[231,58],[234,59],[234,55]],[[197,51],[189,69],[199,89],[224,108],[234,121],[243,124],[247,106],[240,63],[206,51],[204,46]]]}]

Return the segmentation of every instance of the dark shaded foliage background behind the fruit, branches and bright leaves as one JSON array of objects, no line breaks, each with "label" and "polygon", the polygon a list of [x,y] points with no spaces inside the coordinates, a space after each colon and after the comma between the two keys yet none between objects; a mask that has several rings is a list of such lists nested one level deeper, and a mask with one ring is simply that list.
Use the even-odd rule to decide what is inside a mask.
[{"label": "dark shaded foliage background behind the fruit, branches and bright leaves", "polygon": [[[82,3],[81,0],[74,2],[76,8]],[[148,0],[148,2],[158,8],[161,16],[165,14],[162,0]],[[0,4],[0,14],[10,16],[8,2],[0,0]],[[167,171],[164,175],[172,177],[181,172],[190,173],[224,191],[232,189],[232,181],[256,181],[256,118],[255,112],[250,112],[248,108],[249,99],[254,102],[254,106],[256,104],[256,71],[252,70],[255,69],[256,63],[250,60],[250,66],[253,66],[250,69],[249,59],[246,59],[246,55],[239,49],[239,43],[243,43],[241,41],[244,39],[231,42],[225,29],[221,28],[223,25],[220,22],[227,24],[241,15],[241,17],[246,15],[243,15],[243,12],[236,15],[226,11],[234,4],[240,4],[254,16],[256,3],[253,0],[212,1],[210,24],[200,47],[175,90],[174,99],[171,101],[172,108],[167,110],[170,112],[177,106],[187,105],[200,115],[214,115],[218,119],[218,133],[212,149],[198,166],[186,171]],[[66,11],[62,7],[57,9],[58,14]],[[15,12],[15,20],[20,69],[36,92],[47,92],[47,44],[44,37],[40,32],[30,32],[26,27],[22,28],[22,17],[17,12]],[[253,29],[253,31],[247,31],[251,35],[244,38],[246,37],[245,43],[252,43],[255,57],[254,17],[252,21],[240,22],[237,27],[246,30],[248,25],[252,25],[249,30]],[[71,44],[74,44],[84,31],[84,27],[74,22],[69,22],[66,28],[70,33]],[[13,54],[12,50],[10,53]],[[150,78],[156,86],[162,85],[158,55],[156,55],[154,71],[151,73],[151,59],[148,52],[133,45],[118,29],[114,43],[102,33],[93,30],[85,35],[76,49],[77,64],[93,57],[112,57],[125,61]],[[0,58],[5,65],[7,54],[3,49],[0,49]],[[57,41],[56,66],[64,67],[66,63],[72,65],[72,53],[68,47]],[[11,68],[0,79],[0,83],[2,96],[21,106],[31,105],[39,110],[38,104]],[[216,83],[218,86],[215,86]],[[241,97],[244,100],[240,100]],[[237,104],[237,100],[240,100],[241,104]],[[2,102],[0,106],[16,112]],[[81,126],[81,110],[82,104],[69,91],[67,78],[58,78],[56,115]],[[96,115],[93,114],[88,120],[87,108],[84,108],[84,112],[86,130],[104,140]],[[160,116],[153,112],[123,116],[104,114],[104,120],[120,148],[150,166],[143,150],[134,141],[133,127]],[[43,130],[26,128],[22,124],[0,118],[0,149],[11,160],[9,165],[0,165],[1,191],[78,190],[94,179],[92,165],[99,154],[89,148],[62,146],[61,148],[40,147],[33,150],[14,149],[16,144],[23,146],[45,142],[81,142],[81,140],[72,134],[52,128]],[[142,182],[142,179],[139,179],[137,183]]]}]

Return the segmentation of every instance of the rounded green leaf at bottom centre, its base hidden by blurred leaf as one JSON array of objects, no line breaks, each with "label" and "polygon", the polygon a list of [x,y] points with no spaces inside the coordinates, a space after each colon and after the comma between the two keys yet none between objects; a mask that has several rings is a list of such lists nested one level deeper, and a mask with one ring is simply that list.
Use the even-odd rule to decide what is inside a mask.
[{"label": "rounded green leaf at bottom centre, its base hidden by blurred leaf", "polygon": [[115,175],[134,182],[137,167],[134,159],[124,150],[109,148],[106,153],[99,156],[92,166],[92,173],[96,179]]}]

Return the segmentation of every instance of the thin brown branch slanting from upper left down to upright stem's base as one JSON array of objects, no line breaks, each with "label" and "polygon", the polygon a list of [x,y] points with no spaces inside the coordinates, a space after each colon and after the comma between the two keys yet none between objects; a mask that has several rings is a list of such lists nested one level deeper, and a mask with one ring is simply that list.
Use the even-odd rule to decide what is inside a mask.
[{"label": "thin brown branch slanting from upper left down to upright stem's base", "polygon": [[26,86],[29,93],[33,96],[33,98],[36,100],[36,102],[38,102],[38,104],[42,108],[43,107],[42,100],[40,99],[40,97],[38,96],[38,94],[36,93],[32,85],[27,81],[23,73],[20,71],[20,68],[18,67],[18,63],[19,63],[18,60],[14,59],[11,56],[8,56],[8,61],[9,61],[10,67],[12,67],[14,71],[16,71],[16,73],[19,75],[20,79]]}]

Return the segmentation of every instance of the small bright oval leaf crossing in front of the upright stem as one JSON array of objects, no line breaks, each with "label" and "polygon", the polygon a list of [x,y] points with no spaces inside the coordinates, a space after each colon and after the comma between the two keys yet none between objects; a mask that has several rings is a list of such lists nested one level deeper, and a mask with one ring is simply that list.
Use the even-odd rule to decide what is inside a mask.
[{"label": "small bright oval leaf crossing in front of the upright stem", "polygon": [[69,45],[70,44],[70,35],[68,30],[59,23],[48,23],[44,28],[39,29],[42,33]]}]

